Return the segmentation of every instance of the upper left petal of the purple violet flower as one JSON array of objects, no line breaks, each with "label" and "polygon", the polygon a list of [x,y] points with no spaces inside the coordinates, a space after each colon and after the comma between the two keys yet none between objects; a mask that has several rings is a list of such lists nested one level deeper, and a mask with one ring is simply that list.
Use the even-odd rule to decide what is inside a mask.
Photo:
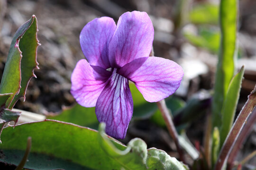
[{"label": "upper left petal of the purple violet flower", "polygon": [[80,34],[82,52],[91,65],[110,68],[108,44],[116,29],[110,17],[93,19]]}]

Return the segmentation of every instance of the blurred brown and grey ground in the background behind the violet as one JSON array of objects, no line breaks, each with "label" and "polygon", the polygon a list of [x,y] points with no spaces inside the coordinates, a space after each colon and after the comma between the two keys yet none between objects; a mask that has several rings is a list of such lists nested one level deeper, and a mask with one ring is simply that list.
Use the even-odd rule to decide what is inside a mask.
[{"label": "blurred brown and grey ground in the background behind the violet", "polygon": [[[70,77],[77,61],[84,58],[79,43],[83,26],[103,16],[117,22],[124,12],[133,10],[146,11],[153,22],[155,56],[183,67],[182,85],[175,96],[187,105],[194,98],[201,104],[199,110],[204,112],[187,125],[187,136],[200,147],[218,59],[219,0],[0,0],[0,75],[14,33],[33,14],[42,44],[37,51],[37,79],[32,78],[28,85],[26,102],[22,99],[15,107],[49,115],[74,105]],[[246,69],[239,112],[256,84],[256,0],[239,0],[238,30],[237,70],[243,64]],[[154,115],[132,121],[122,142],[141,137],[148,147],[178,157],[171,137]],[[174,120],[181,124],[179,117],[174,116]],[[256,126],[246,142],[240,157],[256,149]]]}]

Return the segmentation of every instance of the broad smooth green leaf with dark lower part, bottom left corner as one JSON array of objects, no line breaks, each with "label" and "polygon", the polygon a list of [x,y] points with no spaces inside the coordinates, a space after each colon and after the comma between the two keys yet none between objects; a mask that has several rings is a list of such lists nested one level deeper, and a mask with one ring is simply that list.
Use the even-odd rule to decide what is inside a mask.
[{"label": "broad smooth green leaf with dark lower part, bottom left corner", "polygon": [[[42,122],[7,127],[2,132],[0,150],[4,157],[0,161],[18,165],[32,138],[31,152],[25,168],[34,170],[112,170],[120,169],[119,163],[111,159],[98,142],[98,132],[73,124],[46,120]],[[126,149],[113,138],[110,141],[119,150]]]}]

